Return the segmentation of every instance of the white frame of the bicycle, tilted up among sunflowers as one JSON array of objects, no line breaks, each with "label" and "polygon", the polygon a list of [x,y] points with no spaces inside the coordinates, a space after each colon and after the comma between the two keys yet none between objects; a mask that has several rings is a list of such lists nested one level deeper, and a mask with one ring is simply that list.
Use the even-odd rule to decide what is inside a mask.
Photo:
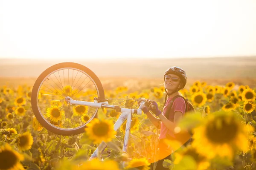
[{"label": "white frame of the bicycle, tilted up among sunflowers", "polygon": [[[78,101],[78,100],[73,100],[70,97],[66,98],[67,101],[70,102],[70,104],[74,104],[74,105],[85,105],[85,106],[92,106],[92,107],[96,107],[96,108],[112,108],[115,109],[115,105],[108,105],[108,102],[98,102],[96,100],[94,100],[94,102],[84,102],[84,101]],[[144,101],[141,102],[141,106],[144,105]],[[126,122],[126,127],[125,127],[125,139],[124,139],[124,143],[123,143],[123,147],[122,147],[122,151],[127,150],[127,144],[128,144],[128,139],[129,139],[129,134],[130,134],[130,129],[131,129],[131,114],[134,113],[134,111],[137,111],[137,114],[142,113],[142,108],[138,108],[136,109],[129,109],[129,108],[121,108],[121,115],[119,116],[119,118],[117,119],[116,123],[114,124],[114,130],[116,131],[123,122],[125,122],[125,120],[127,119]],[[105,150],[105,148],[107,147],[108,144],[106,144],[104,141],[102,141],[101,144],[99,144],[99,147],[96,148],[96,150],[93,152],[93,154],[90,156],[90,159],[96,158],[99,152],[102,152]],[[102,148],[102,150],[99,150],[99,148]]]}]

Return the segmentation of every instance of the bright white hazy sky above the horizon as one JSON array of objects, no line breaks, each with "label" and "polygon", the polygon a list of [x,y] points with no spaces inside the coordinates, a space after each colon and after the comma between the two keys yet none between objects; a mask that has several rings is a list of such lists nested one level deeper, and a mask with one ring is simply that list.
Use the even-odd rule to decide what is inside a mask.
[{"label": "bright white hazy sky above the horizon", "polygon": [[256,0],[0,0],[0,58],[256,56]]}]

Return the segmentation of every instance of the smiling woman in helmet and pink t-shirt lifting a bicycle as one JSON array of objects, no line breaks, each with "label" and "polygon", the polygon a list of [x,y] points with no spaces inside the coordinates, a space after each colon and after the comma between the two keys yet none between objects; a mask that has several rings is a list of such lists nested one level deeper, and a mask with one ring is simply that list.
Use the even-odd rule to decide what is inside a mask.
[{"label": "smiling woman in helmet and pink t-shirt lifting a bicycle", "polygon": [[[169,68],[164,74],[164,87],[166,91],[166,98],[163,105],[163,113],[159,110],[158,105],[155,101],[151,104],[155,106],[154,110],[152,110],[151,106],[149,106],[148,108],[143,108],[143,112],[148,116],[148,119],[152,122],[152,124],[160,129],[160,135],[158,137],[159,159],[157,161],[156,170],[167,170],[168,168],[163,167],[163,161],[164,159],[172,160],[171,154],[174,152],[174,150],[170,146],[168,146],[164,142],[164,140],[176,138],[176,134],[174,133],[175,127],[177,125],[177,122],[179,122],[179,120],[185,114],[186,103],[183,98],[177,97],[172,104],[168,119],[166,118],[166,106],[170,103],[171,99],[174,96],[179,95],[179,90],[184,88],[184,86],[186,85],[186,81],[186,72],[182,68]],[[154,114],[149,111],[152,111]]]}]

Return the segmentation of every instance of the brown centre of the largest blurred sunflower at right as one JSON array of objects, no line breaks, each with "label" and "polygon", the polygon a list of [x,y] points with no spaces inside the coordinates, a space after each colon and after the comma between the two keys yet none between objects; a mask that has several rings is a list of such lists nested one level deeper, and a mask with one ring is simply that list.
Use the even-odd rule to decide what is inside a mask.
[{"label": "brown centre of the largest blurred sunflower at right", "polygon": [[235,121],[231,120],[228,123],[223,118],[218,118],[209,122],[206,127],[206,136],[212,142],[223,144],[232,141],[236,137],[237,131],[238,126]]}]

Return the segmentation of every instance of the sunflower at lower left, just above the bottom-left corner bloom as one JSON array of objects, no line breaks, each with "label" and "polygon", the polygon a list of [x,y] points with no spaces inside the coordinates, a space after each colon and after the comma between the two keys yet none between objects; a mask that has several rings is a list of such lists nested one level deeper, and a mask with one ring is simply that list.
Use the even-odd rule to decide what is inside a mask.
[{"label": "sunflower at lower left, just above the bottom-left corner bloom", "polygon": [[31,149],[33,142],[33,137],[29,132],[20,134],[17,139],[18,147],[22,151]]}]

